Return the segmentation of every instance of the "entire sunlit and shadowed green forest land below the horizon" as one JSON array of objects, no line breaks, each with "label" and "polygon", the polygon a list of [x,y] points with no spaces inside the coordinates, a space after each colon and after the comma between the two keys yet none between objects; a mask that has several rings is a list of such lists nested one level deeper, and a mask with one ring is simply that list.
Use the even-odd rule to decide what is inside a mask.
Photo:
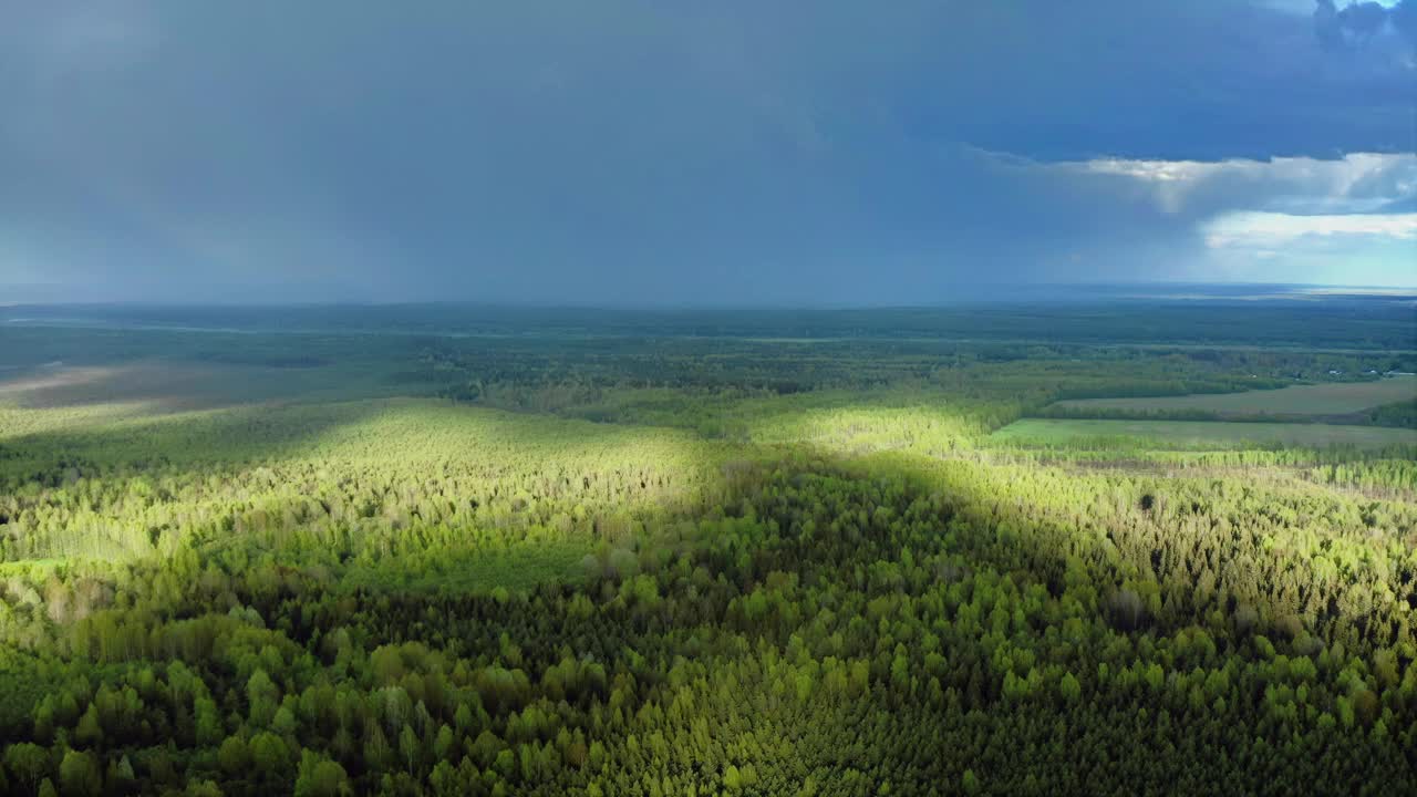
[{"label": "entire sunlit and shadowed green forest land below the horizon", "polygon": [[1413,793],[1414,321],[0,308],[0,790]]}]

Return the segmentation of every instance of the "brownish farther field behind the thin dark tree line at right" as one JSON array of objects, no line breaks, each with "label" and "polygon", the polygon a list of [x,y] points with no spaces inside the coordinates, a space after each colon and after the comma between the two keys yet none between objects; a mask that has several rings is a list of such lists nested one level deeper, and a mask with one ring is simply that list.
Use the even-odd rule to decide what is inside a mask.
[{"label": "brownish farther field behind the thin dark tree line at right", "polygon": [[1342,416],[1417,397],[1417,377],[1399,376],[1377,381],[1297,384],[1280,390],[1244,393],[1148,396],[1131,398],[1074,398],[1056,407],[1077,410],[1186,411],[1223,416]]}]

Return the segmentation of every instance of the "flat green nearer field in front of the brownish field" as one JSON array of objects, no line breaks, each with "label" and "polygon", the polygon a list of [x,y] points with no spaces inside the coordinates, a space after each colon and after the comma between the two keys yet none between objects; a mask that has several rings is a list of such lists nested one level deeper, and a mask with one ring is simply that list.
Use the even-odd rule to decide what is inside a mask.
[{"label": "flat green nearer field in front of the brownish field", "polygon": [[1255,444],[1304,448],[1349,445],[1380,450],[1391,445],[1417,445],[1417,431],[1407,428],[1091,418],[1023,418],[989,437],[992,442],[1049,447],[1087,445],[1087,441],[1101,438],[1136,438],[1180,448],[1229,448],[1237,444]]}]

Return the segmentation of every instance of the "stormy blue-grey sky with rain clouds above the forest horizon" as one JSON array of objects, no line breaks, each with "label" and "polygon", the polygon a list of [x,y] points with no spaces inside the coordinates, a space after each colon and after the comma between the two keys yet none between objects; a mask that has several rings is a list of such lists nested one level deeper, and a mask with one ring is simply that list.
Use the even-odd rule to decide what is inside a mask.
[{"label": "stormy blue-grey sky with rain clouds above the forest horizon", "polygon": [[1417,286],[1417,0],[0,0],[7,301]]}]

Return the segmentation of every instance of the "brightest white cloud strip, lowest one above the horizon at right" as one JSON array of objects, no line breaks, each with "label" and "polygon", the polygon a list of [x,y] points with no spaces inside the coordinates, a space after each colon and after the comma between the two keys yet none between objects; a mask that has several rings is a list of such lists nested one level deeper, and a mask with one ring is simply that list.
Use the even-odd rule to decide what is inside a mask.
[{"label": "brightest white cloud strip, lowest one above the horizon at right", "polygon": [[1289,216],[1285,213],[1230,213],[1203,225],[1206,245],[1251,247],[1274,251],[1305,237],[1362,235],[1417,241],[1417,213]]}]

